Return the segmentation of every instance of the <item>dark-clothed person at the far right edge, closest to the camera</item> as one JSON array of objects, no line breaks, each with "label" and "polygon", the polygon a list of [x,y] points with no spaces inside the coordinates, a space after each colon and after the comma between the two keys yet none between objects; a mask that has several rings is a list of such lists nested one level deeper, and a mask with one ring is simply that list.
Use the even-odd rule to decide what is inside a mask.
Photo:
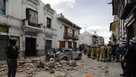
[{"label": "dark-clothed person at the far right edge, closest to the camera", "polygon": [[136,38],[130,40],[126,59],[126,77],[136,77]]}]

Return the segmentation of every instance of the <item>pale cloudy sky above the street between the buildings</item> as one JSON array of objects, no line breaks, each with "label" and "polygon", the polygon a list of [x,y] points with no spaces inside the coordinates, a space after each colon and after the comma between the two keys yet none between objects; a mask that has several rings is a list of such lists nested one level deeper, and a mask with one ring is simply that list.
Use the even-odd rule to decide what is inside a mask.
[{"label": "pale cloudy sky above the street between the buildings", "polygon": [[42,0],[50,3],[58,12],[82,27],[81,32],[97,32],[105,38],[106,43],[111,33],[109,25],[112,22],[112,7],[110,0]]}]

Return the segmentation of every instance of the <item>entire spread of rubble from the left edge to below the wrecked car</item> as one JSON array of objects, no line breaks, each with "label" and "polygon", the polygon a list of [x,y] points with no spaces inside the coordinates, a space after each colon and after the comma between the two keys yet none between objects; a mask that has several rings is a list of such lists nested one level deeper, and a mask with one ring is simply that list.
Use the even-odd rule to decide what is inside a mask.
[{"label": "entire spread of rubble from the left edge to below the wrecked car", "polygon": [[[17,63],[17,72],[24,73],[27,77],[33,77],[36,72],[47,71],[50,73],[55,73],[56,71],[65,72],[65,71],[76,71],[77,63],[75,60],[70,61],[55,61],[53,58],[49,62],[45,61],[44,57],[40,58],[28,58],[18,60]],[[7,65],[0,65],[0,76],[7,74]]]}]

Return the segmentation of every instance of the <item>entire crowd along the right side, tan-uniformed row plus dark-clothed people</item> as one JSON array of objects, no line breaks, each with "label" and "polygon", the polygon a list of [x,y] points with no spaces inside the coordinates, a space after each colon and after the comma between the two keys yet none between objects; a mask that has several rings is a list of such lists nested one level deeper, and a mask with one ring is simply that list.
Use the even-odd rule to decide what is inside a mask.
[{"label": "entire crowd along the right side, tan-uniformed row plus dark-clothed people", "polygon": [[120,44],[89,47],[85,50],[88,57],[98,61],[120,62],[123,77],[136,77],[136,38]]}]

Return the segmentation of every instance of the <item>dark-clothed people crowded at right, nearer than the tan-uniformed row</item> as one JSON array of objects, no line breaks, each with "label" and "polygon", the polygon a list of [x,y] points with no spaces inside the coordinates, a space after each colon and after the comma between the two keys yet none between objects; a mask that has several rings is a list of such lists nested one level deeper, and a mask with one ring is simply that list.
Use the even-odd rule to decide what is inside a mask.
[{"label": "dark-clothed people crowded at right, nearer than the tan-uniformed row", "polygon": [[121,76],[136,77],[136,37],[113,45],[111,50],[113,60],[121,63],[123,70]]}]

